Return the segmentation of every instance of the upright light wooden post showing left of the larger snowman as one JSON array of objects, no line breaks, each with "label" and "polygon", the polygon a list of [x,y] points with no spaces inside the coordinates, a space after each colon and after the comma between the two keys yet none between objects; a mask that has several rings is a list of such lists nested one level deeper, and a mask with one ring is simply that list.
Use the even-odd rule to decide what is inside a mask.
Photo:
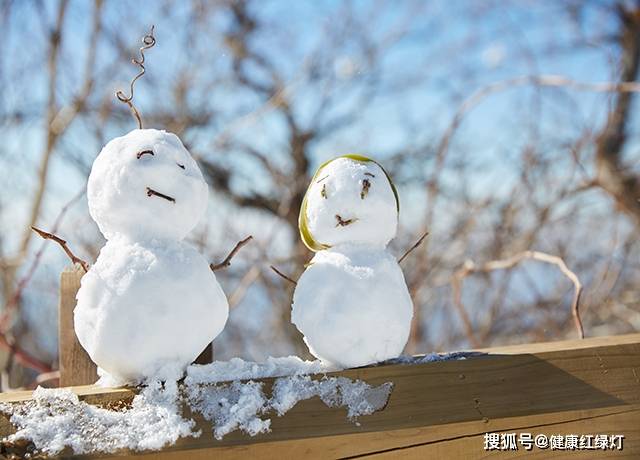
[{"label": "upright light wooden post showing left of the larger snowman", "polygon": [[61,387],[90,385],[98,380],[97,367],[78,342],[73,328],[73,310],[83,274],[82,268],[76,266],[65,269],[60,275],[58,356]]}]

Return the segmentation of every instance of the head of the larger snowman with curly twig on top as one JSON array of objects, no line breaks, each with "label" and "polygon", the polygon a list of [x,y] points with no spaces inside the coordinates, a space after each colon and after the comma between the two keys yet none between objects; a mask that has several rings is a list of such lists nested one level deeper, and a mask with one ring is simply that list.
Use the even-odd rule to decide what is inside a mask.
[{"label": "head of the larger snowman with curly twig on top", "polygon": [[89,213],[107,238],[184,238],[204,214],[208,187],[178,136],[135,129],[93,163]]}]

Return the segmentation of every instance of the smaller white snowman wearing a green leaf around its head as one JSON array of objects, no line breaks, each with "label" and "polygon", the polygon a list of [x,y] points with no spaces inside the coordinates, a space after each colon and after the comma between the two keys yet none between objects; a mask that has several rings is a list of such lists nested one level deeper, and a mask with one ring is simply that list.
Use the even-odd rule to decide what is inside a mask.
[{"label": "smaller white snowman wearing a green leaf around its head", "polygon": [[313,177],[299,227],[317,253],[297,282],[291,320],[322,361],[357,367],[402,353],[413,304],[387,251],[398,213],[391,179],[369,158],[336,158]]}]

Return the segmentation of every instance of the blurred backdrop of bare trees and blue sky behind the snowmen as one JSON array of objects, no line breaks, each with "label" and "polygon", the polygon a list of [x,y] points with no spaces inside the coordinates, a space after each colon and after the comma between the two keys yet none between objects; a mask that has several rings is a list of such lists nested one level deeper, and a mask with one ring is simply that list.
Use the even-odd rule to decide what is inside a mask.
[{"label": "blurred backdrop of bare trees and blue sky behind the snowmen", "polygon": [[588,335],[640,328],[640,2],[0,0],[7,366],[55,367],[62,259],[42,256],[28,228],[66,216],[60,233],[97,254],[76,191],[101,146],[134,127],[113,93],[151,23],[137,106],[145,126],[183,139],[212,186],[192,243],[218,260],[256,237],[220,273],[234,309],[218,356],[309,356],[291,286],[268,267],[302,272],[309,177],[351,151],[379,158],[400,188],[393,250],[431,233],[403,262],[408,352],[574,336],[573,286],[552,265],[490,264],[504,270],[469,272],[452,295],[465,259],[529,250],[578,275]]}]

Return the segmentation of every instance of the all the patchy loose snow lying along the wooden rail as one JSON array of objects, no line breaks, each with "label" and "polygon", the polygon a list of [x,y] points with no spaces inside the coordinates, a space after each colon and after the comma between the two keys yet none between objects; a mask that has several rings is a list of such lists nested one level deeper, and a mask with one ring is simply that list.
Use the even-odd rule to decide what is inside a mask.
[{"label": "all the patchy loose snow lying along the wooden rail", "polygon": [[[416,364],[445,359],[464,359],[469,354],[430,354],[399,358]],[[234,358],[208,365],[191,365],[183,383],[151,381],[118,410],[92,406],[68,389],[38,388],[24,403],[2,404],[17,432],[8,441],[26,439],[40,452],[56,455],[69,448],[75,454],[114,452],[119,449],[157,450],[181,437],[198,437],[195,422],[182,416],[188,404],[212,424],[213,436],[241,430],[251,436],[270,431],[270,417],[282,416],[299,401],[319,397],[329,407],[344,407],[346,416],[357,417],[381,410],[393,383],[372,387],[361,380],[318,376],[338,369],[320,361],[290,356],[254,363]],[[270,394],[261,382],[274,377]]]}]

